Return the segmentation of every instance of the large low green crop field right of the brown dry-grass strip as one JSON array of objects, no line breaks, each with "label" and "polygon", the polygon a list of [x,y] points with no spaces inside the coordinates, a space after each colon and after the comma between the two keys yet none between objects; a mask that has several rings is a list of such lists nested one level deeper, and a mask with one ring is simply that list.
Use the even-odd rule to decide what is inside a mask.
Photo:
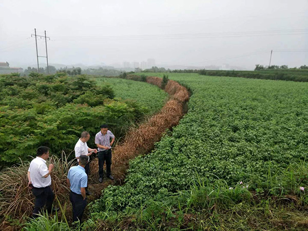
[{"label": "large low green crop field right of the brown dry-grass strip", "polygon": [[[295,195],[307,205],[300,190],[308,183],[307,83],[198,74],[169,78],[192,90],[188,113],[153,152],[131,161],[125,185],[104,190],[92,206],[98,218],[101,211],[117,216],[121,211],[128,217],[147,214],[147,224],[151,221],[156,227],[172,219],[179,219],[175,222],[179,225],[185,223],[181,207],[187,208],[189,201],[197,201],[195,213],[199,202],[204,209],[213,209],[208,207],[212,192],[213,200],[230,199],[232,206],[222,203],[228,209],[244,202],[248,190],[266,198]],[[211,205],[215,204],[221,209],[219,201]],[[247,219],[243,222],[251,225]]]}]

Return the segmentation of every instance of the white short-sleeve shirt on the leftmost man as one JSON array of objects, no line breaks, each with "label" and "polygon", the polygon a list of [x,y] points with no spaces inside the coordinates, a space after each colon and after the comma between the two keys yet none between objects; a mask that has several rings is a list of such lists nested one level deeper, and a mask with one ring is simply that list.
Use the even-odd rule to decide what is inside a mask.
[{"label": "white short-sleeve shirt on the leftmost man", "polygon": [[51,185],[51,177],[44,177],[48,174],[48,167],[46,165],[46,160],[41,157],[36,157],[30,163],[28,169],[30,172],[30,179],[33,187],[35,188],[44,188]]}]

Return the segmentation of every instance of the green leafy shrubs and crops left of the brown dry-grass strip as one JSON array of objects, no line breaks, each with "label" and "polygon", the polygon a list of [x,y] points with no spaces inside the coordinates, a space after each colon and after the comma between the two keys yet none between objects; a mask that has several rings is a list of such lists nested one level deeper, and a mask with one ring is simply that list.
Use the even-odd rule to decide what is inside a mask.
[{"label": "green leafy shrubs and crops left of the brown dry-grass strip", "polygon": [[[40,145],[51,147],[57,155],[63,149],[69,153],[82,130],[93,135],[101,123],[109,123],[117,137],[124,136],[132,123],[159,110],[166,98],[158,87],[140,83],[142,87],[135,90],[128,87],[130,82],[113,81],[111,88],[85,76],[3,75],[0,167],[17,163],[19,158],[27,160]],[[133,92],[146,92],[149,97],[132,98]]]}]

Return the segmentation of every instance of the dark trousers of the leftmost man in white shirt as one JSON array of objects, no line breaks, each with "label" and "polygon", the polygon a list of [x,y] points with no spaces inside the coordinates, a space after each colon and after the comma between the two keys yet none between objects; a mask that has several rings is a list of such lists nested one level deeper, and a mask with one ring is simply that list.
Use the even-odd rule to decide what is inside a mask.
[{"label": "dark trousers of the leftmost man in white shirt", "polygon": [[46,204],[47,212],[51,213],[52,202],[54,199],[54,194],[50,186],[45,188],[32,188],[33,195],[35,196],[34,209],[32,217],[38,217],[38,214],[41,213],[43,207]]}]

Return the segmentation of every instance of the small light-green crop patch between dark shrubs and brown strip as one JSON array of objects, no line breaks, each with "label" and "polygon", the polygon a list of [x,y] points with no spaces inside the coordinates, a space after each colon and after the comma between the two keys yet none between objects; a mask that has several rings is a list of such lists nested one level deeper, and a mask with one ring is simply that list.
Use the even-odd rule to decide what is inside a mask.
[{"label": "small light-green crop patch between dark shrubs and brown strip", "polygon": [[124,79],[98,78],[99,85],[110,85],[116,98],[136,100],[142,107],[149,109],[149,113],[157,112],[165,104],[167,93],[157,86],[144,82]]}]

